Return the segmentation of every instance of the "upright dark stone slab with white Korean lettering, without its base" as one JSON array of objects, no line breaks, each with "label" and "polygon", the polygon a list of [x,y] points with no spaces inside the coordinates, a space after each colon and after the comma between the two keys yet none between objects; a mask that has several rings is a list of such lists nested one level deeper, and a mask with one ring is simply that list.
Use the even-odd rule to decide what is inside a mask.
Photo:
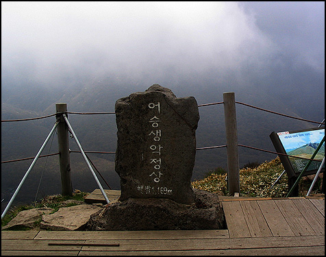
[{"label": "upright dark stone slab with white Korean lettering, without its base", "polygon": [[120,200],[164,198],[192,204],[190,179],[199,121],[196,99],[177,98],[170,89],[155,84],[118,99],[115,109]]}]

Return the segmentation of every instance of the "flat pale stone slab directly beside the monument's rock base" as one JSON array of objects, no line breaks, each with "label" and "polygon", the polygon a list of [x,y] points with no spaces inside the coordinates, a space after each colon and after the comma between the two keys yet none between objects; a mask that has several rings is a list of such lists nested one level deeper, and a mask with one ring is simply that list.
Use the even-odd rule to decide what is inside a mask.
[{"label": "flat pale stone slab directly beside the monument's rock base", "polygon": [[51,215],[43,215],[40,228],[46,230],[84,230],[90,215],[103,208],[88,204],[63,207]]}]

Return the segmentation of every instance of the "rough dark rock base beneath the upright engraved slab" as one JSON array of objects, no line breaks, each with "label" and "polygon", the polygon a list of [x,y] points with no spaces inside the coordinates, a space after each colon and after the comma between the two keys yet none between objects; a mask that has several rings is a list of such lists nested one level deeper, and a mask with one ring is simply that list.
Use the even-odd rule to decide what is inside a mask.
[{"label": "rough dark rock base beneath the upright engraved slab", "polygon": [[218,195],[194,189],[193,204],[171,199],[128,198],[91,215],[86,230],[221,230],[225,229]]}]

